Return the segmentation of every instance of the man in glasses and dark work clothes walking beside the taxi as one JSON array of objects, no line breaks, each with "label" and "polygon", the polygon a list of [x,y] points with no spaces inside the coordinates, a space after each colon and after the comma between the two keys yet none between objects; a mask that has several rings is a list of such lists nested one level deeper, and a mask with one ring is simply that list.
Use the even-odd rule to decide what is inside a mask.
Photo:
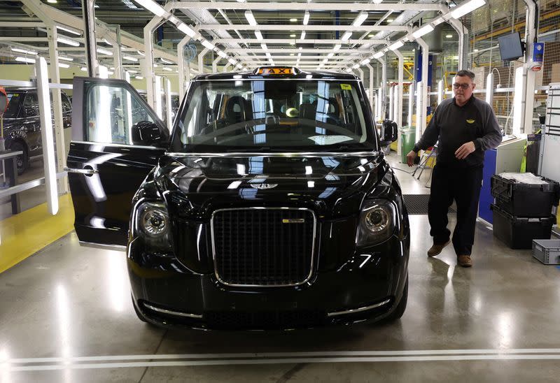
[{"label": "man in glasses and dark work clothes walking beside the taxi", "polygon": [[470,259],[475,240],[478,199],[482,186],[484,152],[502,142],[498,120],[491,106],[472,94],[475,73],[458,71],[454,78],[453,99],[437,106],[430,124],[414,149],[407,154],[412,166],[419,150],[437,144],[437,164],[433,169],[428,219],[433,246],[428,256],[436,256],[449,244],[447,212],[456,201],[457,224],[453,246],[457,263],[472,266]]}]

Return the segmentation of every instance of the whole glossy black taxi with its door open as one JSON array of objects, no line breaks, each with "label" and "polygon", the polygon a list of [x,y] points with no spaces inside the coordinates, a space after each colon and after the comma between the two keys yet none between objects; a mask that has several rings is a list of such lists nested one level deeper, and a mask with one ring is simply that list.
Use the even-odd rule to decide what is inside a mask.
[{"label": "whole glossy black taxi with its door open", "polygon": [[409,222],[381,150],[394,131],[379,137],[355,75],[199,75],[171,132],[125,81],[75,78],[73,94],[76,233],[126,250],[141,320],[266,329],[405,312]]}]

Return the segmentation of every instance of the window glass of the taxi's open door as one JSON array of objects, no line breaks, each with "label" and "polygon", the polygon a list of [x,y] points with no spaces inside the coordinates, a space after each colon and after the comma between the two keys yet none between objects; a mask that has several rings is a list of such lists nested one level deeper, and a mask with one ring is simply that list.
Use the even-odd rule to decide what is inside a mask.
[{"label": "window glass of the taxi's open door", "polygon": [[120,85],[94,84],[87,88],[84,119],[86,140],[132,145],[132,126],[155,122],[137,93]]}]

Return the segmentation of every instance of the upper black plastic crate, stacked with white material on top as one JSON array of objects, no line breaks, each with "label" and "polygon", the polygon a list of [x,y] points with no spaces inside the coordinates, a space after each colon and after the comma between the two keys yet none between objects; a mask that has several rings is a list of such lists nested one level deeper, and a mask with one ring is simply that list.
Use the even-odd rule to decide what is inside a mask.
[{"label": "upper black plastic crate, stacked with white material on top", "polygon": [[558,205],[560,186],[554,180],[541,178],[548,183],[530,185],[492,175],[490,187],[496,206],[514,217],[550,217],[552,206]]}]

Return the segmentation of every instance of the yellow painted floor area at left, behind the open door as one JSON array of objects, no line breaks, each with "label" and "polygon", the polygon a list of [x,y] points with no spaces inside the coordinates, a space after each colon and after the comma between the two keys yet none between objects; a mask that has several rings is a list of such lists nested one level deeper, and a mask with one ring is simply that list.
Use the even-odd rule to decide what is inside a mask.
[{"label": "yellow painted floor area at left, behind the open door", "polygon": [[0,273],[70,233],[74,208],[70,194],[58,198],[57,215],[50,215],[47,203],[0,220]]}]

